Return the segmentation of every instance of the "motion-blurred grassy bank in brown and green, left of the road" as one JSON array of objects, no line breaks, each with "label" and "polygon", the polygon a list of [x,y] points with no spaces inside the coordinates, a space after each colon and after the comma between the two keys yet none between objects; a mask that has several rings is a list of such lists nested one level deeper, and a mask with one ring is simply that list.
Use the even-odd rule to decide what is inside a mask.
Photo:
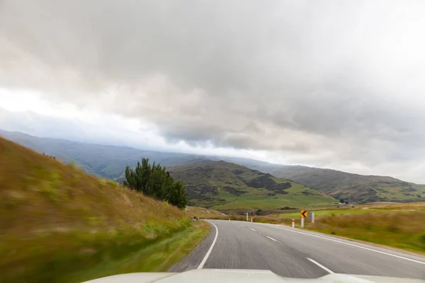
[{"label": "motion-blurred grassy bank in brown and green, left of the road", "polygon": [[2,282],[166,270],[208,233],[168,204],[0,138]]}]

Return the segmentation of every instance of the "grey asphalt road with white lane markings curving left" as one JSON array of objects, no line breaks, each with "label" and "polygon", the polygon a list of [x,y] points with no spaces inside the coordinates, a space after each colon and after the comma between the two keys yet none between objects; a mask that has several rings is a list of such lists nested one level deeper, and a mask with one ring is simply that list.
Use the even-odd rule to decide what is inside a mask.
[{"label": "grey asphalt road with white lane markings curving left", "polygon": [[334,272],[425,279],[425,258],[416,255],[289,226],[208,222],[208,237],[170,272],[254,269],[296,278],[318,278]]}]

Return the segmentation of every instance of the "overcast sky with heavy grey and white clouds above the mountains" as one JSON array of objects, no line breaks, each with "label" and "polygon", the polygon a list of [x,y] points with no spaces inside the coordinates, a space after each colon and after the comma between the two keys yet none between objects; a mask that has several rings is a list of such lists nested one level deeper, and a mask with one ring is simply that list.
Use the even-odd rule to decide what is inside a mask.
[{"label": "overcast sky with heavy grey and white clouds above the mountains", "polygon": [[0,0],[0,128],[425,183],[425,1]]}]

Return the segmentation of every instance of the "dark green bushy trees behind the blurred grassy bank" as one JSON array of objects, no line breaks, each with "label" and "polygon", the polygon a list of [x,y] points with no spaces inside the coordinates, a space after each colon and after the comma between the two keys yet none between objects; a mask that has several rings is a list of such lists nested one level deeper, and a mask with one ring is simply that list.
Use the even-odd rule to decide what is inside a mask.
[{"label": "dark green bushy trees behind the blurred grassy bank", "polygon": [[149,197],[162,200],[183,209],[188,204],[188,194],[182,182],[175,181],[165,167],[149,164],[148,158],[137,162],[135,169],[125,168],[123,184]]}]

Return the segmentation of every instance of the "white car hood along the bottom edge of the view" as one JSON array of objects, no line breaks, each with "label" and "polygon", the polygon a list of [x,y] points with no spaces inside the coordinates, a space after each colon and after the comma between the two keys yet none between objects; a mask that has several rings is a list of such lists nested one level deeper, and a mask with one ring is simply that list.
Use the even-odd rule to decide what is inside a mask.
[{"label": "white car hood along the bottom edge of the view", "polygon": [[123,275],[113,275],[87,281],[86,283],[189,283],[189,282],[203,282],[203,283],[227,283],[227,282],[243,282],[243,283],[424,283],[423,279],[407,279],[397,277],[380,277],[380,276],[366,276],[366,275],[344,275],[344,274],[330,274],[317,279],[298,279],[280,277],[270,270],[216,270],[216,269],[202,269],[202,270],[189,270],[186,272],[140,272],[128,273]]}]

